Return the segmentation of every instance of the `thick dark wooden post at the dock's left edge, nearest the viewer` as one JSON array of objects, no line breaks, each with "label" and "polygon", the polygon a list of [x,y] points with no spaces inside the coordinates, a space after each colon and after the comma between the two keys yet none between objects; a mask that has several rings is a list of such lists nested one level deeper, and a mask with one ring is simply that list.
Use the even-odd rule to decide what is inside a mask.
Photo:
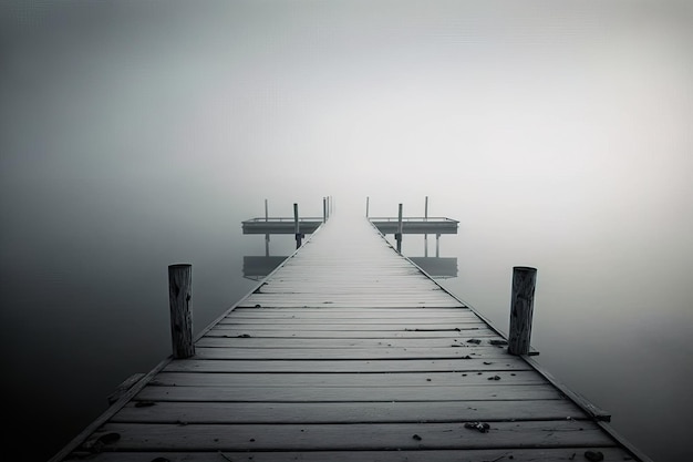
[{"label": "thick dark wooden post at the dock's left edge, nearest the viewer", "polygon": [[168,266],[168,302],[170,307],[170,337],[173,357],[189,358],[195,355],[193,345],[193,315],[190,312],[193,266]]}]

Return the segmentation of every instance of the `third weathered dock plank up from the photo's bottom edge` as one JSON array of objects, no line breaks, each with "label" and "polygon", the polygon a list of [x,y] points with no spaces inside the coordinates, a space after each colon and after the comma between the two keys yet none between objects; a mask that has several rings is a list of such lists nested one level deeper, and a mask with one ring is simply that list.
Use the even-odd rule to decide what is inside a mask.
[{"label": "third weathered dock plank up from the photo's bottom edge", "polygon": [[[142,403],[142,402],[141,402]],[[415,423],[566,420],[583,414],[567,400],[434,402],[131,403],[113,422],[141,423]]]}]

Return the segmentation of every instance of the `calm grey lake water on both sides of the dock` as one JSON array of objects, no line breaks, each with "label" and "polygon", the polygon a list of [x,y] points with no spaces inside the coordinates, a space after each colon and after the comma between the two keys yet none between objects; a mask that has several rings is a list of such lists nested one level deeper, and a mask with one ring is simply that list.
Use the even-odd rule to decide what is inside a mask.
[{"label": "calm grey lake water on both sides of the dock", "polygon": [[[255,215],[231,214],[228,229],[149,247],[37,242],[45,253],[35,265],[3,258],[2,391],[14,403],[8,444],[28,438],[33,453],[25,460],[49,459],[106,409],[121,381],[168,355],[168,264],[193,264],[196,330],[251,290],[256,281],[244,278],[242,257],[263,255],[265,244],[242,236],[240,220]],[[606,257],[539,242],[518,246],[455,209],[445,215],[462,219],[458,235],[441,238],[441,256],[458,258],[458,276],[438,281],[507,331],[511,267],[536,266],[539,362],[610,411],[612,425],[653,460],[684,460],[693,351],[683,267],[658,264],[651,248]],[[428,245],[433,256],[435,239]],[[290,236],[272,238],[272,255],[292,248]],[[403,251],[423,256],[423,238],[405,236]]]}]

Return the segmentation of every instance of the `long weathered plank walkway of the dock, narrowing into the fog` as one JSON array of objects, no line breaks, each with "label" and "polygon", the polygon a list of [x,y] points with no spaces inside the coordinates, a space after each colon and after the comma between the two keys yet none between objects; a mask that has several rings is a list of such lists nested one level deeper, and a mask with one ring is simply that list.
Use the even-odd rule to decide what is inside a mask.
[{"label": "long weathered plank walkway of the dock, narrowing into the fog", "polygon": [[51,462],[648,461],[505,340],[338,214]]}]

